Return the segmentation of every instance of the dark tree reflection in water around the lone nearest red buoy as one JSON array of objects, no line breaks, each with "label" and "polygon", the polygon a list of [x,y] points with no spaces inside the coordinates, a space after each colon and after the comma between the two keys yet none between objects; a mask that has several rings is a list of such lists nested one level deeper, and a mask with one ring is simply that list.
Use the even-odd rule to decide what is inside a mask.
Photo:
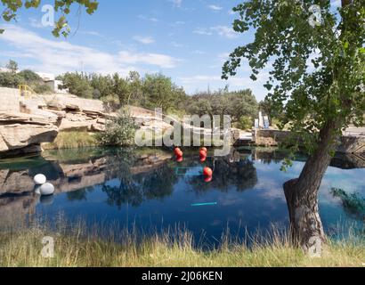
[{"label": "dark tree reflection in water around the lone nearest red buoy", "polygon": [[202,177],[193,176],[190,180],[194,191],[207,191],[212,188],[228,191],[235,186],[237,191],[253,188],[257,183],[257,173],[254,163],[249,159],[232,161],[230,157],[214,160],[214,175],[210,183],[205,183]]}]

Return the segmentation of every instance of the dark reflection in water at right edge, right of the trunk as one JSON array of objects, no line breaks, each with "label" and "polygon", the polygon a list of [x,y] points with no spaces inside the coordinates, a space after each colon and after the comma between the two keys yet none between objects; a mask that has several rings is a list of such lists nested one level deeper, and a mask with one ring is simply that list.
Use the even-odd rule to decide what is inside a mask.
[{"label": "dark reflection in water at right edge, right of the trunk", "polygon": [[341,199],[342,207],[349,216],[365,222],[365,198],[359,193],[347,193],[342,189],[332,188],[333,197]]}]

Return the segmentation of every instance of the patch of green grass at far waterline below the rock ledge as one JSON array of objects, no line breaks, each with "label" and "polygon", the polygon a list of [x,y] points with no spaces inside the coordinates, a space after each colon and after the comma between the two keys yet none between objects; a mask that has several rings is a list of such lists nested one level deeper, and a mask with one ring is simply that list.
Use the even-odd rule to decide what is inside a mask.
[{"label": "patch of green grass at far waterline below the rock ledge", "polygon": [[42,144],[44,150],[64,150],[94,147],[98,145],[95,134],[87,132],[61,132],[54,142]]}]

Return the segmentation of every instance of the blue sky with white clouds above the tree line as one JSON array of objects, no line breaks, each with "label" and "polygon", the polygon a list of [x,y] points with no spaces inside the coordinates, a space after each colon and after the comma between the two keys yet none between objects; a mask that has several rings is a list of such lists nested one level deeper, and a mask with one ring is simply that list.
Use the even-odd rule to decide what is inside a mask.
[{"label": "blue sky with white clouds above the tree line", "polygon": [[[51,4],[43,1],[42,4]],[[52,27],[42,25],[41,7],[22,9],[17,21],[0,22],[0,66],[9,59],[20,69],[55,75],[85,71],[126,76],[130,70],[162,72],[188,94],[223,88],[250,88],[257,100],[266,95],[268,72],[252,81],[248,64],[235,77],[222,80],[222,66],[229,53],[253,40],[238,34],[232,7],[239,0],[99,0],[93,15],[69,15],[69,37],[55,38]],[[2,4],[0,4],[0,9]]]}]

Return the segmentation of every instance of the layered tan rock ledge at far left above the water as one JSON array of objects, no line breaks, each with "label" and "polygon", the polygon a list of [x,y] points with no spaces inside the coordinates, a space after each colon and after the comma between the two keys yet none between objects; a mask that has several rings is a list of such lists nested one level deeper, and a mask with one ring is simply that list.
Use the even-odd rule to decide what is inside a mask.
[{"label": "layered tan rock ledge at far left above the water", "polygon": [[41,151],[61,131],[101,132],[106,113],[101,101],[68,94],[20,96],[0,88],[0,156]]}]

